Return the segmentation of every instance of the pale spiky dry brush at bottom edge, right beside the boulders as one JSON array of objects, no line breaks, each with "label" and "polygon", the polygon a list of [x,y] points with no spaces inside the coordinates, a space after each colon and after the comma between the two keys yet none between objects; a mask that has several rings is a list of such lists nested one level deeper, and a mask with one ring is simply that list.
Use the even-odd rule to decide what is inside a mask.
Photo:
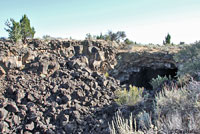
[{"label": "pale spiky dry brush at bottom edge, right beside the boulders", "polygon": [[[134,126],[134,127],[133,127]],[[137,130],[137,128],[139,128]],[[157,128],[151,123],[151,118],[148,113],[141,112],[136,118],[132,114],[129,119],[122,116],[121,111],[118,111],[111,124],[109,124],[111,134],[156,134]]]}]

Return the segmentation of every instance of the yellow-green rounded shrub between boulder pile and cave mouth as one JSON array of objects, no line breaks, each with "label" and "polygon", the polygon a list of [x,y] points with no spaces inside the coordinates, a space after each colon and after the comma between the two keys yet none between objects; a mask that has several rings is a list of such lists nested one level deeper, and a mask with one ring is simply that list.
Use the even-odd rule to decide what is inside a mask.
[{"label": "yellow-green rounded shrub between boulder pile and cave mouth", "polygon": [[138,102],[143,100],[142,93],[144,89],[138,88],[130,85],[129,91],[126,90],[117,90],[115,95],[117,99],[115,99],[116,103],[119,105],[130,105],[133,106]]}]

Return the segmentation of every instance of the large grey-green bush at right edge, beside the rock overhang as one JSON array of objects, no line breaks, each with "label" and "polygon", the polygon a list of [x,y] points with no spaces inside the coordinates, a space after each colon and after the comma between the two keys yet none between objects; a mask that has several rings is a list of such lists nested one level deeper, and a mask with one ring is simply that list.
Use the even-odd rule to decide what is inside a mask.
[{"label": "large grey-green bush at right edge, beside the rock overhang", "polygon": [[178,63],[178,76],[190,74],[197,80],[200,79],[200,42],[184,46],[174,59]]}]

